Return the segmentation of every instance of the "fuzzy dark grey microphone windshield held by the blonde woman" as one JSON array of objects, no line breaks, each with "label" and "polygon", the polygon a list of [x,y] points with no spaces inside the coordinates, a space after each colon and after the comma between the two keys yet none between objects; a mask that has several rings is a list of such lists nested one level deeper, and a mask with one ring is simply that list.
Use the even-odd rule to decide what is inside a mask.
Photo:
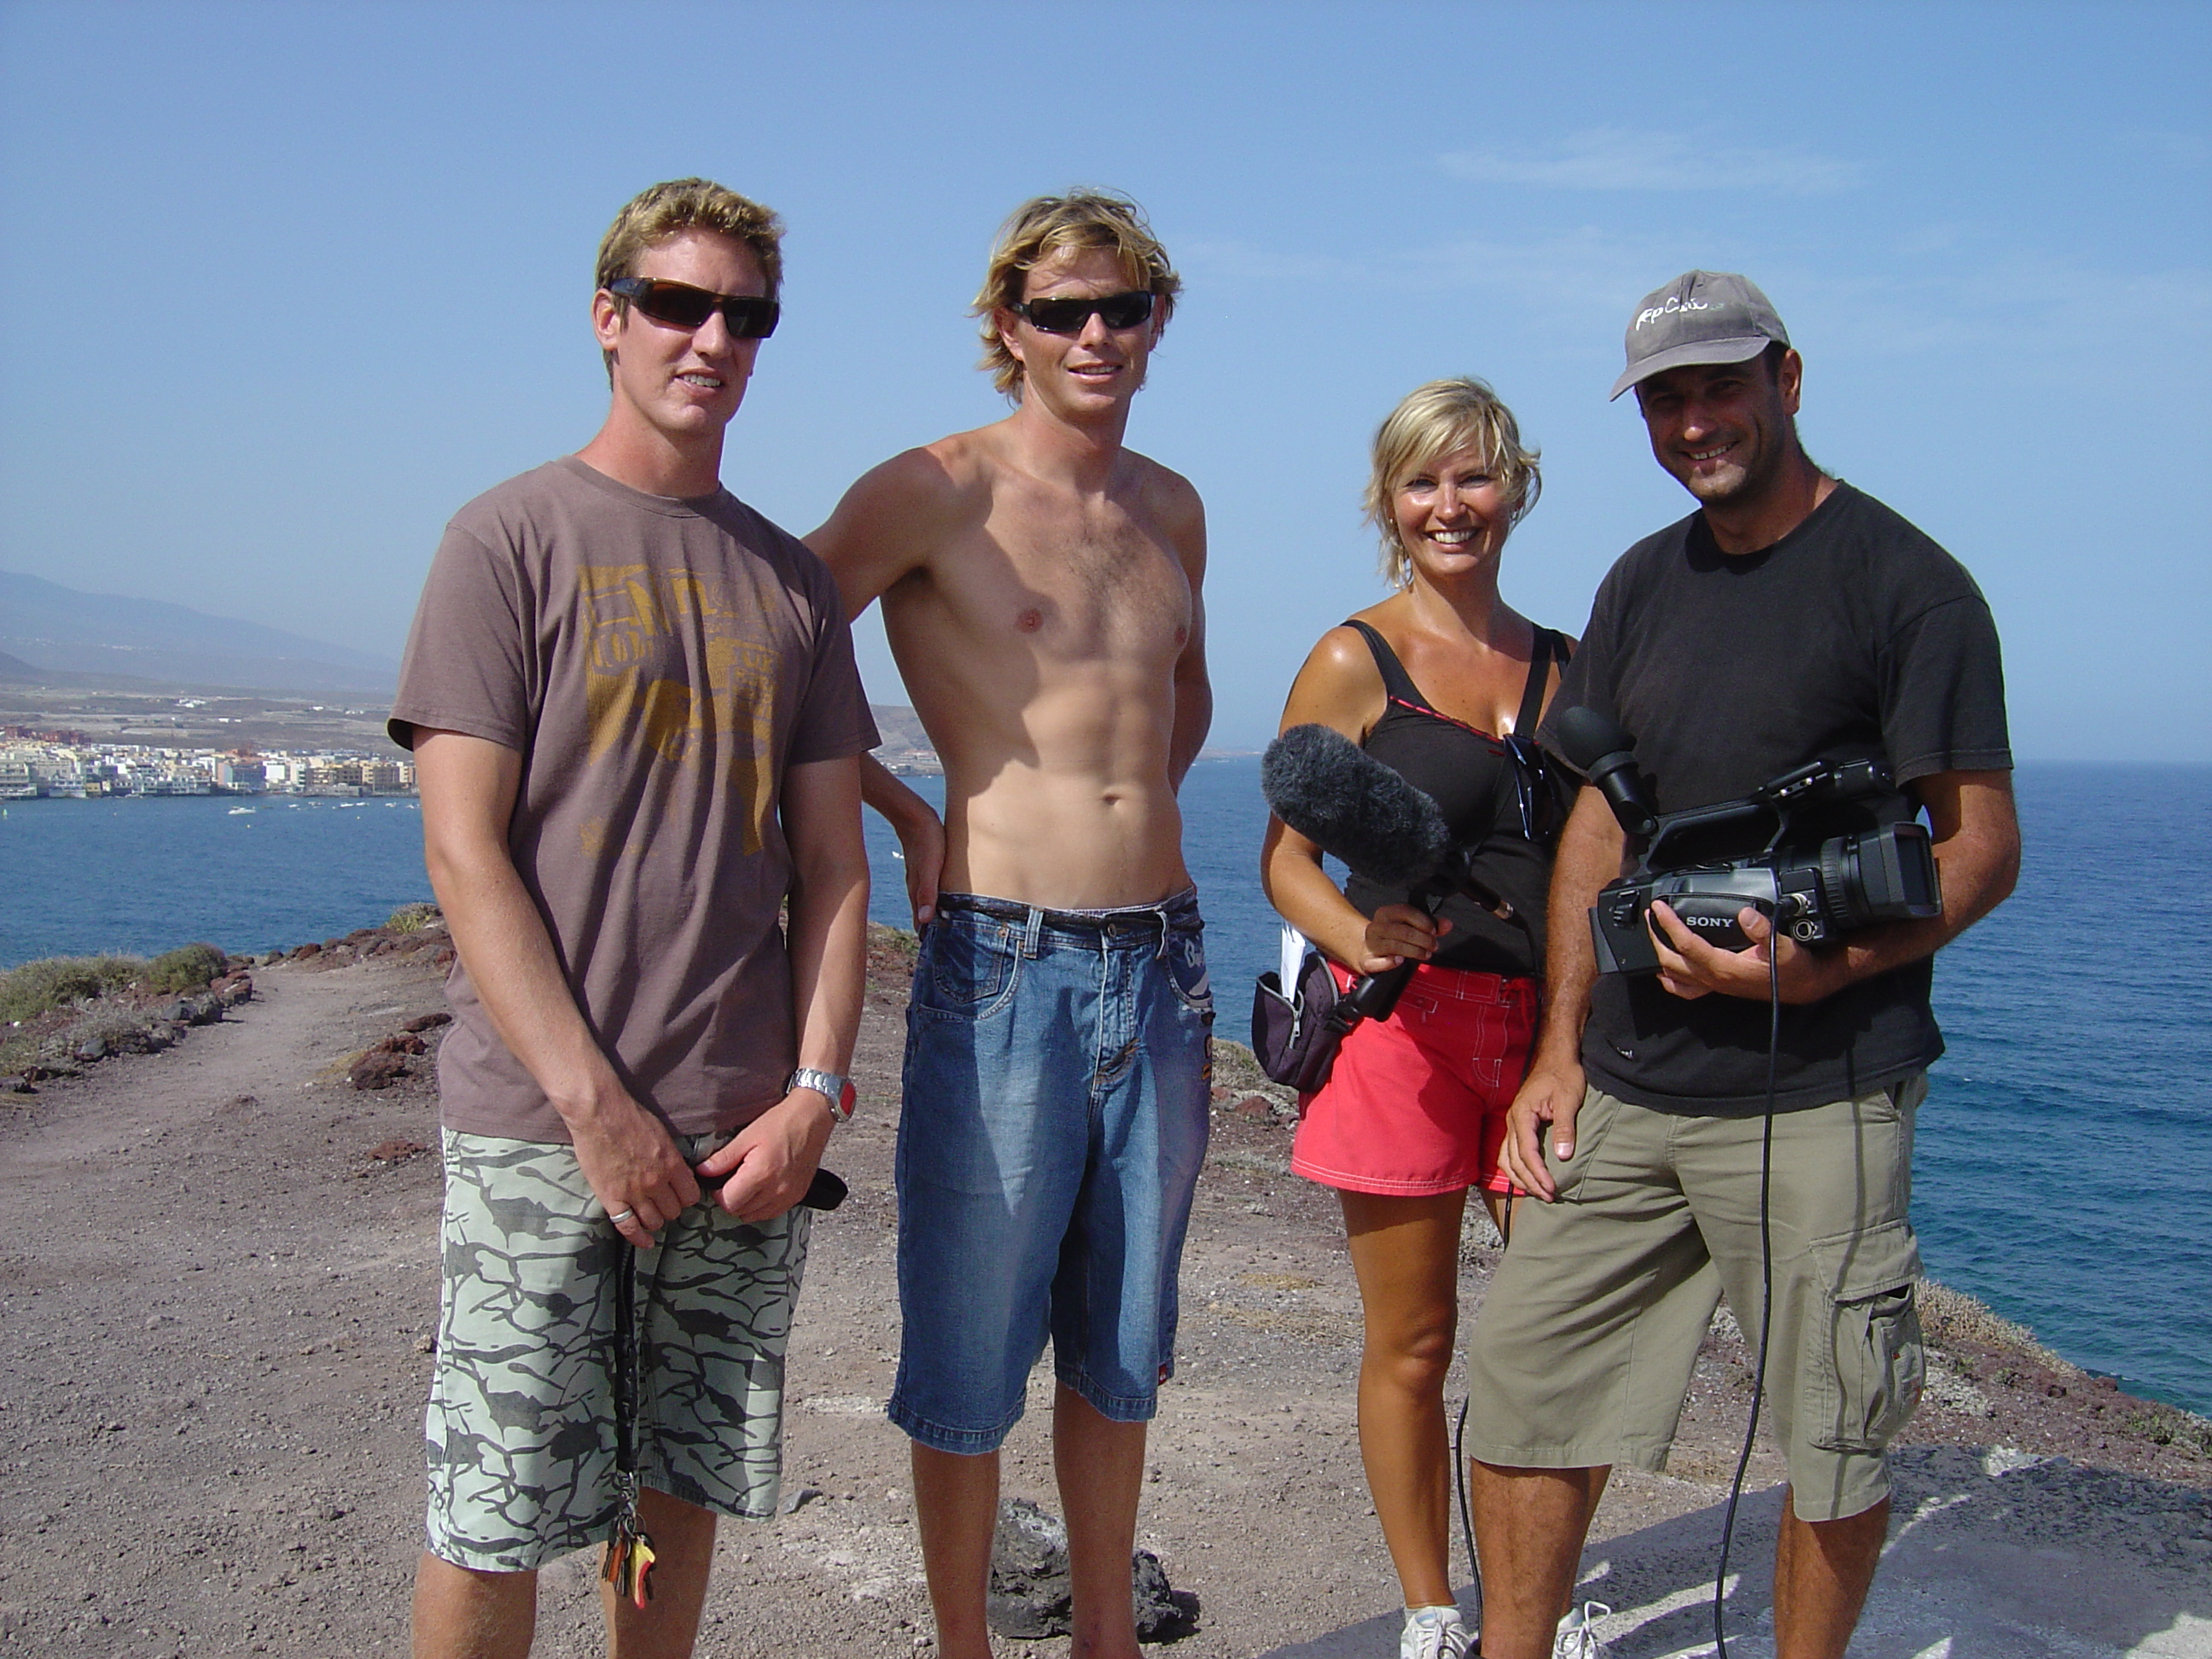
[{"label": "fuzzy dark grey microphone windshield held by the blonde woman", "polygon": [[1327,726],[1274,739],[1259,787],[1274,816],[1367,880],[1418,887],[1451,858],[1442,807]]}]

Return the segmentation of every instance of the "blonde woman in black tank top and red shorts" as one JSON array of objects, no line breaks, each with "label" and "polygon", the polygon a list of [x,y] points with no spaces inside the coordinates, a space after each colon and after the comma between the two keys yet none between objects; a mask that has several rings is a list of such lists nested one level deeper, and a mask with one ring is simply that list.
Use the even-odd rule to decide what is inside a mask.
[{"label": "blonde woman in black tank top and red shorts", "polygon": [[1405,889],[1354,878],[1270,821],[1267,898],[1329,958],[1338,984],[1411,958],[1387,1020],[1360,1024],[1305,1099],[1292,1168],[1338,1190],[1365,1307],[1360,1458],[1405,1593],[1405,1659],[1469,1646],[1451,1595],[1444,1371],[1458,1329],[1467,1190],[1509,1225],[1504,1113],[1535,1035],[1544,889],[1562,816],[1537,750],[1564,635],[1498,597],[1506,535],[1537,498],[1537,456],[1473,378],[1431,380],[1376,431],[1367,513],[1394,593],[1329,628],[1283,708],[1318,721],[1436,796],[1484,898],[1438,918]]}]

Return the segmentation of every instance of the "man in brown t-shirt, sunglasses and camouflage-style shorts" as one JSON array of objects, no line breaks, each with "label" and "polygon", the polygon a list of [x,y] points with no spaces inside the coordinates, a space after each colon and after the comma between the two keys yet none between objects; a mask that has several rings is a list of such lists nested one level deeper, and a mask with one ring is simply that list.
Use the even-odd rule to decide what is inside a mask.
[{"label": "man in brown t-shirt, sunglasses and camouflage-style shorts", "polygon": [[529,1652],[538,1568],[611,1533],[611,1646],[690,1652],[717,1513],[774,1509],[876,743],[830,573],[719,484],[779,237],[706,179],[622,210],[606,425],[453,518],[407,641],[458,949],[418,1659]]}]

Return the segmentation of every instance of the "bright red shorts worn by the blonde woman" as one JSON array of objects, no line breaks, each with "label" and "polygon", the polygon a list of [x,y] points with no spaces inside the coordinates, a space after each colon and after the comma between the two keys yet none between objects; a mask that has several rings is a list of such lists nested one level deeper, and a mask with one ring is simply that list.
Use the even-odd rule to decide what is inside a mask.
[{"label": "bright red shorts worn by the blonde woman", "polygon": [[[1329,971],[1349,989],[1352,975]],[[1354,1026],[1329,1082],[1305,1097],[1290,1168],[1391,1197],[1520,1192],[1498,1155],[1535,1015],[1535,980],[1422,962],[1391,1018]]]}]

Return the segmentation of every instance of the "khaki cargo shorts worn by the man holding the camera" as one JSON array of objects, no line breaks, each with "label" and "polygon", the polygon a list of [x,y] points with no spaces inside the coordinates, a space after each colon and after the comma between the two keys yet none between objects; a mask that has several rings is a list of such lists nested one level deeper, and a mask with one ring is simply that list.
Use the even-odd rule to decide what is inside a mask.
[{"label": "khaki cargo shorts worn by the man holding the camera", "polygon": [[[1798,1520],[1889,1495],[1920,1405],[1907,1221],[1927,1075],[1774,1117],[1774,1327],[1763,1420]],[[1759,1343],[1763,1119],[1679,1117],[1593,1088],[1559,1203],[1526,1201],[1469,1336],[1467,1451],[1506,1469],[1666,1469],[1721,1296]]]}]

